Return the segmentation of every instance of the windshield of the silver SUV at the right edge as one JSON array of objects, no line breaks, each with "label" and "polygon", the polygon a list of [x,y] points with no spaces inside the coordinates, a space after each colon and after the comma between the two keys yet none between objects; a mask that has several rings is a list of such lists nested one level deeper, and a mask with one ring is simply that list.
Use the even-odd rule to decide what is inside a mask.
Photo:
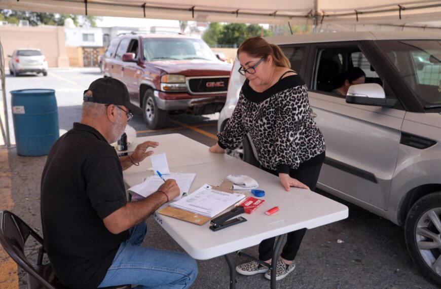
[{"label": "windshield of the silver SUV at the right edge", "polygon": [[424,109],[441,107],[441,40],[378,41]]}]

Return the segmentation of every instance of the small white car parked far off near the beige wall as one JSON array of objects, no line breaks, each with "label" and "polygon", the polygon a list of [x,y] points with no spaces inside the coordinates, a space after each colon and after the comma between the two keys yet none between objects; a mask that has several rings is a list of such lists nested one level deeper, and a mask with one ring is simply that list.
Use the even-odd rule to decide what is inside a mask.
[{"label": "small white car parked far off near the beige wall", "polygon": [[9,71],[11,75],[19,76],[24,73],[48,75],[48,62],[40,49],[16,49],[8,57],[10,57]]}]

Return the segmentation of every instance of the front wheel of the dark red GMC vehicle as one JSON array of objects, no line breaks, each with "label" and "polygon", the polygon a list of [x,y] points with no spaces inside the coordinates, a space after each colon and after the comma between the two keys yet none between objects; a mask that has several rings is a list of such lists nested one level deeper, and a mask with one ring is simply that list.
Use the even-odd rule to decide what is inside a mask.
[{"label": "front wheel of the dark red GMC vehicle", "polygon": [[158,109],[153,90],[148,89],[142,98],[142,109],[145,123],[151,129],[164,127],[168,123],[168,112]]}]

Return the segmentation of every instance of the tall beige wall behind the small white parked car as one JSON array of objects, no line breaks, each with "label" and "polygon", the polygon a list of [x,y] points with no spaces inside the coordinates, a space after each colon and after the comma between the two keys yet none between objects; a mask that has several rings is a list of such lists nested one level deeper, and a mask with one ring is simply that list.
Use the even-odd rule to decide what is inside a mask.
[{"label": "tall beige wall behind the small white parked car", "polygon": [[5,66],[17,48],[39,48],[49,67],[68,67],[69,59],[64,45],[63,26],[0,26],[0,41],[5,53]]}]

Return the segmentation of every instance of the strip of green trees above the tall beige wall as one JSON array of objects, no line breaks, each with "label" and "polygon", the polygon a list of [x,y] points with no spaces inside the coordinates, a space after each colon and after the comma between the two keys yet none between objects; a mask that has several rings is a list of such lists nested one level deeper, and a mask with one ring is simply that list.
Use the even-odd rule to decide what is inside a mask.
[{"label": "strip of green trees above the tall beige wall", "polygon": [[96,27],[96,20],[99,17],[96,16],[82,16],[74,14],[58,14],[58,13],[40,13],[40,12],[27,12],[27,11],[15,11],[15,10],[1,10],[0,15],[2,20],[6,20],[9,23],[18,24],[20,20],[28,20],[29,25],[57,25],[63,26],[66,18],[72,18],[75,25],[79,25],[80,22],[86,26]]}]

